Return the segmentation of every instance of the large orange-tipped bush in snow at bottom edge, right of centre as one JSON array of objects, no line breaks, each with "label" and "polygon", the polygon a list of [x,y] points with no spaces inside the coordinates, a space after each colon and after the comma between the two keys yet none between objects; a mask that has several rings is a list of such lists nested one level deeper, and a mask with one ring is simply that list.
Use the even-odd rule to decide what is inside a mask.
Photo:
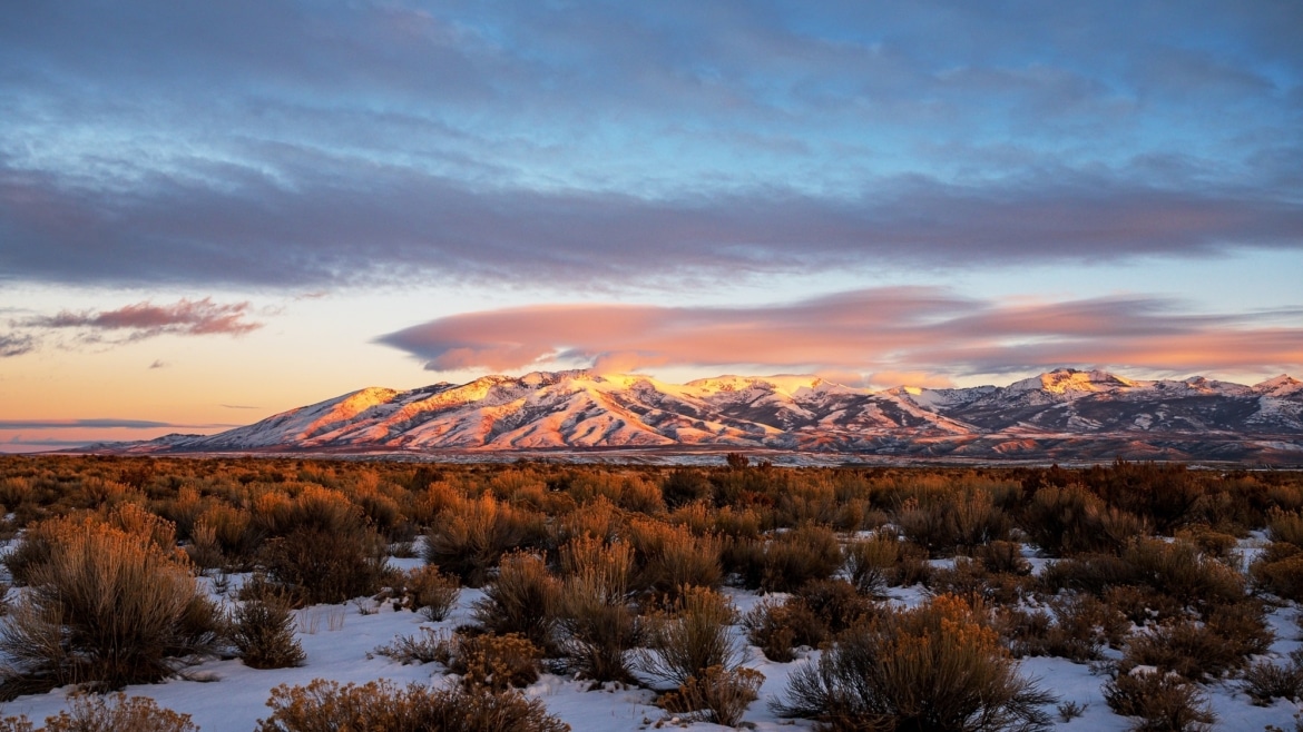
[{"label": "large orange-tipped bush in snow at bottom edge, right of centre", "polygon": [[950,597],[855,624],[817,664],[792,673],[787,697],[775,705],[780,715],[847,732],[1045,729],[1037,707],[1053,701],[1018,675],[995,632]]}]

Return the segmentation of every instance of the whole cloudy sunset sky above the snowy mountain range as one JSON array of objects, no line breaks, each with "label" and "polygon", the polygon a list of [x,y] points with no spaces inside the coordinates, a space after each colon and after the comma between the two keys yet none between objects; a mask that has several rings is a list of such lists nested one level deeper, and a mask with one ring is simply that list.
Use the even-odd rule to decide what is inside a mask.
[{"label": "whole cloudy sunset sky above the snowy mountain range", "polygon": [[0,449],[597,369],[1303,375],[1303,4],[0,4]]}]

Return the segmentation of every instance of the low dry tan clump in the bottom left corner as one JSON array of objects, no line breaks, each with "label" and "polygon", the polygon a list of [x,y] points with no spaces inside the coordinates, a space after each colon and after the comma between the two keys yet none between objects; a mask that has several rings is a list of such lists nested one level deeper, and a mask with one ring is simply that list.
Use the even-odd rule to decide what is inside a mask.
[{"label": "low dry tan clump in the bottom left corner", "polygon": [[[198,732],[189,714],[163,709],[149,697],[76,696],[69,709],[47,716],[42,732]],[[0,720],[0,732],[36,732],[26,716]]]}]

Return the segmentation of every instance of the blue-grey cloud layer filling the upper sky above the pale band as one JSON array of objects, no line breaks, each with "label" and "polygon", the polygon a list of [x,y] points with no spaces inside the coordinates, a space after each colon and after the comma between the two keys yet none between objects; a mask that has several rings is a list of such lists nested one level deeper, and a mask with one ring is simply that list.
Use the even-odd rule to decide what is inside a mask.
[{"label": "blue-grey cloud layer filling the upper sky above the pale band", "polygon": [[1229,0],[12,3],[0,272],[674,281],[1296,250],[1300,26]]}]

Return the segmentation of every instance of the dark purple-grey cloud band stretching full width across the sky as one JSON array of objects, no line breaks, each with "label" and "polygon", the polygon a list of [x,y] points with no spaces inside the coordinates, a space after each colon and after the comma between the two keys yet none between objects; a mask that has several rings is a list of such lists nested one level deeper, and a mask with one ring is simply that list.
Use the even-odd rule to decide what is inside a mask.
[{"label": "dark purple-grey cloud band stretching full width across the sky", "polygon": [[300,287],[431,275],[671,281],[1303,249],[1295,199],[1123,175],[1050,171],[980,185],[911,176],[852,197],[756,188],[654,199],[477,190],[400,168],[352,180],[330,160],[297,164],[292,186],[165,180],[122,193],[70,190],[0,167],[0,228],[12,242],[0,263],[70,283]]}]

